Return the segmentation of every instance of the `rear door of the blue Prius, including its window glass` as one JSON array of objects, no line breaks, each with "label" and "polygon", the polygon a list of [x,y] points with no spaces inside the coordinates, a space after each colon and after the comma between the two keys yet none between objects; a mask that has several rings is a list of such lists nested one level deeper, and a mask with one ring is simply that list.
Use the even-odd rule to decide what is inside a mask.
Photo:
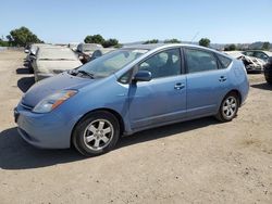
[{"label": "rear door of the blue Prius, including its window glass", "polygon": [[184,48],[187,76],[187,116],[215,114],[228,86],[227,69],[202,49]]}]

